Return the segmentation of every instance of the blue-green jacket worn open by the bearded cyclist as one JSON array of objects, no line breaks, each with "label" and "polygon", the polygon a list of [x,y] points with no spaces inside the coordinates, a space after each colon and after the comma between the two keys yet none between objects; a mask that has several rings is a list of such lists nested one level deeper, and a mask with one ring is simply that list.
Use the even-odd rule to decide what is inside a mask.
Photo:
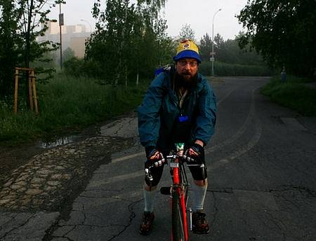
[{"label": "blue-green jacket worn open by the bearded cyclist", "polygon": [[195,139],[207,144],[216,123],[216,97],[209,81],[198,74],[197,86],[187,93],[180,108],[178,97],[173,92],[172,76],[171,69],[154,78],[138,107],[140,143],[145,147],[169,149],[175,141],[178,117],[183,115],[188,117],[187,125],[180,130],[187,133],[185,144],[192,144]]}]

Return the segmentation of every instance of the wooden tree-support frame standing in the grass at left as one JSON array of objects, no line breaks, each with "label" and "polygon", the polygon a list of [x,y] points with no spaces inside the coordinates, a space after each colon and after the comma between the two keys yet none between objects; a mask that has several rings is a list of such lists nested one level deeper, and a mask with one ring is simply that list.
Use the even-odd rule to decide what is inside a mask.
[{"label": "wooden tree-support frame standing in the grass at left", "polygon": [[35,83],[34,69],[33,68],[19,68],[19,67],[15,67],[14,113],[18,113],[18,88],[19,88],[20,71],[26,71],[28,73],[29,106],[32,111],[35,111],[35,113],[39,113],[39,107],[37,104],[37,88],[36,88],[36,83]]}]

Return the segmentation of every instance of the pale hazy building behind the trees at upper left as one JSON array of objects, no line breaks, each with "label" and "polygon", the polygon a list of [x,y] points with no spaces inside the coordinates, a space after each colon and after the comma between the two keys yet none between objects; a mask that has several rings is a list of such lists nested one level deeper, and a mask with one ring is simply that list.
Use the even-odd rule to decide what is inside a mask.
[{"label": "pale hazy building behind the trees at upper left", "polygon": [[[91,32],[86,32],[85,25],[63,25],[62,26],[62,51],[67,48],[74,50],[74,55],[84,57],[85,43]],[[48,22],[45,36],[40,36],[37,41],[60,42],[58,22]]]}]

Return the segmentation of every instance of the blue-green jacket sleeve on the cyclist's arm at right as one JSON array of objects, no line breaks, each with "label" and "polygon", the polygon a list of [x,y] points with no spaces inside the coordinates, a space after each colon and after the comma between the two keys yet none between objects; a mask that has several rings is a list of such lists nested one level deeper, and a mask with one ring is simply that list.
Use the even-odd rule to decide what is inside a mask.
[{"label": "blue-green jacket sleeve on the cyclist's arm at right", "polygon": [[199,92],[195,139],[206,145],[214,134],[216,123],[216,96],[207,81]]}]

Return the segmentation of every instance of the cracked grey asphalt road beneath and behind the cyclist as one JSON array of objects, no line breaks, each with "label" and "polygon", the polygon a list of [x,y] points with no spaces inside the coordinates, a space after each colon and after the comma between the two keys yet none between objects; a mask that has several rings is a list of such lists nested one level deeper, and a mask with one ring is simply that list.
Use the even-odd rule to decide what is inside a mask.
[{"label": "cracked grey asphalt road beneath and behind the cyclist", "polygon": [[[211,232],[190,234],[191,240],[316,240],[316,119],[272,104],[259,93],[267,81],[212,82],[218,122],[206,146]],[[100,165],[67,209],[0,212],[0,240],[169,240],[169,197],[160,193],[152,233],[138,234],[145,156],[136,116],[105,125],[98,135],[133,146]],[[160,186],[171,182],[167,169]]]}]

